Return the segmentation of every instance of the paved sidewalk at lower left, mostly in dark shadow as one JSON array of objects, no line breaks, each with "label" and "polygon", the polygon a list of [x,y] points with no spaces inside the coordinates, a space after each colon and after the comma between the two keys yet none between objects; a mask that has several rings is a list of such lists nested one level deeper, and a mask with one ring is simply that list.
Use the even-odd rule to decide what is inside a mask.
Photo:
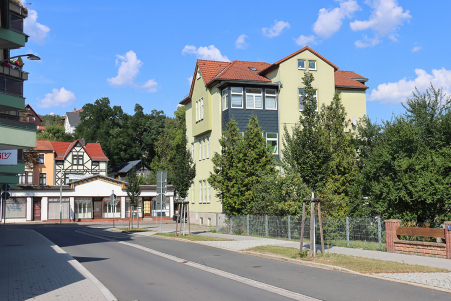
[{"label": "paved sidewalk at lower left, mostly in dark shadow", "polygon": [[41,234],[0,229],[1,300],[116,300],[88,270]]}]

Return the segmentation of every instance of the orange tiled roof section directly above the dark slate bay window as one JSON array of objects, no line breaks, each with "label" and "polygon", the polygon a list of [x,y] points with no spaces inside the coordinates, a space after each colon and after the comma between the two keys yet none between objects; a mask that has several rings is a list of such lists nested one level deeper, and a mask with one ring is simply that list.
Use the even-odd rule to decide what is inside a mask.
[{"label": "orange tiled roof section directly above the dark slate bay window", "polygon": [[[271,82],[270,79],[258,74],[268,66],[270,66],[270,64],[264,62],[233,61],[224,69],[224,71],[216,75],[212,80],[234,79]],[[249,67],[254,68],[255,70],[251,70]]]}]

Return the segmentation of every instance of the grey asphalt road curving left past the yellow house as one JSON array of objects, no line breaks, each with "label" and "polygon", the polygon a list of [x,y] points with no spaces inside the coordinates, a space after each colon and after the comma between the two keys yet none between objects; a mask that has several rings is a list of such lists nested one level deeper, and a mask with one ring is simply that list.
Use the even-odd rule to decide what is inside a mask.
[{"label": "grey asphalt road curving left past the yellow house", "polygon": [[[189,262],[320,300],[450,300],[451,295],[396,282],[293,265],[201,244],[111,233],[94,226],[33,226],[83,264],[119,300],[290,300],[95,235],[139,245]],[[77,231],[77,232],[76,232]],[[85,232],[85,233],[79,233]]]}]

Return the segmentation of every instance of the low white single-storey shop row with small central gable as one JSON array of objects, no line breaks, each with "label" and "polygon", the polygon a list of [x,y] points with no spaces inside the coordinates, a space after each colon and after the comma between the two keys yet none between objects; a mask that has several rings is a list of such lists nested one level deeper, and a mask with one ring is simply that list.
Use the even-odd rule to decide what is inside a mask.
[{"label": "low white single-storey shop row with small central gable", "polygon": [[[6,201],[7,223],[24,221],[92,221],[130,217],[127,183],[103,175],[75,180],[69,185],[17,185]],[[60,189],[62,191],[60,209]],[[117,196],[113,205],[111,194]],[[163,208],[157,203],[156,185],[142,185],[136,216],[140,219],[174,214],[174,190],[169,186]],[[0,216],[0,220],[1,220]]]}]

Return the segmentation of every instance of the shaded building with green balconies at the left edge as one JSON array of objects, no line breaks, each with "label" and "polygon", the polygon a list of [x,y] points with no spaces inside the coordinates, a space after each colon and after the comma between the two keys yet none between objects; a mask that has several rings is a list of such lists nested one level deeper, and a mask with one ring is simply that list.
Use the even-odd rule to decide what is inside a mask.
[{"label": "shaded building with green balconies at the left edge", "polygon": [[27,42],[23,32],[27,16],[22,5],[0,0],[0,183],[13,187],[19,182],[17,174],[25,169],[22,150],[36,146],[36,125],[27,123],[23,116],[23,84],[28,73],[20,63],[9,60],[10,50],[22,48]]}]

